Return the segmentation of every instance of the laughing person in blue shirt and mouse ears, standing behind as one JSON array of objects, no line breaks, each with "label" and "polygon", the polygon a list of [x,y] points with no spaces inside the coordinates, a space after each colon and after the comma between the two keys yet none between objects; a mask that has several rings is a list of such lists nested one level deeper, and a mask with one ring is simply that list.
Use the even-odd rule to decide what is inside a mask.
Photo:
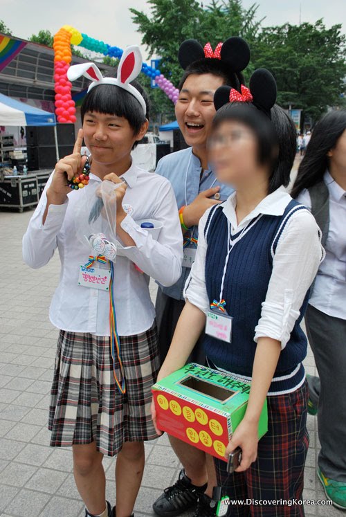
[{"label": "laughing person in blue shirt and mouse ears, standing behind", "polygon": [[[208,162],[207,140],[215,116],[214,93],[222,84],[240,90],[244,82],[241,71],[250,60],[250,50],[243,39],[229,38],[212,51],[196,40],[188,39],[179,48],[179,62],[185,70],[179,84],[176,120],[185,142],[190,146],[165,156],[158,162],[156,173],[172,183],[184,235],[183,273],[174,286],[158,287],[156,318],[161,350],[161,363],[170,347],[176,323],[185,306],[183,288],[191,271],[199,238],[199,219],[208,208],[225,201],[233,188],[218,181]],[[190,361],[204,364],[201,339]],[[167,487],[154,502],[158,516],[174,517],[188,509],[196,516],[210,512],[212,488],[216,484],[212,457],[203,451],[170,437],[170,443],[183,469],[179,479]]]}]

